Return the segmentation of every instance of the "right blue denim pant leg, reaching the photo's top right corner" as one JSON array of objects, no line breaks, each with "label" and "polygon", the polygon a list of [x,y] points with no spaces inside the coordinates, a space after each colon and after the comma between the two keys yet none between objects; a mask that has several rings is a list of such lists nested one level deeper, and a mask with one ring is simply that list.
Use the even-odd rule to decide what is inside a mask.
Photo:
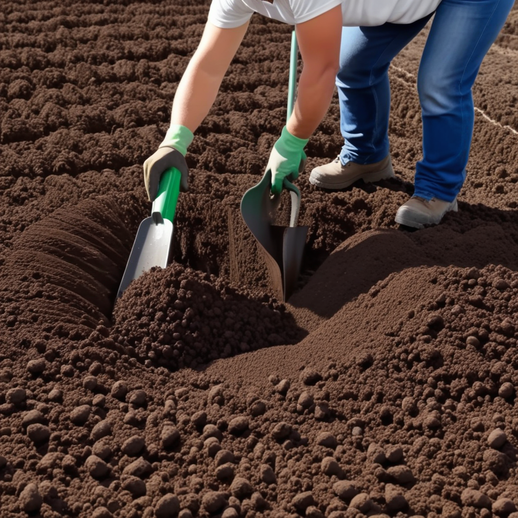
[{"label": "right blue denim pant leg, reaching the photo's top right corner", "polygon": [[452,202],[466,177],[473,135],[471,87],[514,0],[442,0],[418,75],[423,160],[414,194]]}]

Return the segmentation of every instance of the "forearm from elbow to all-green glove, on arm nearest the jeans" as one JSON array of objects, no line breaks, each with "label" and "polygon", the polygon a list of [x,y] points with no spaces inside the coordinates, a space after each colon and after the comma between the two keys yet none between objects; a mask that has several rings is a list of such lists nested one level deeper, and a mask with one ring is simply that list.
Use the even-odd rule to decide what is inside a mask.
[{"label": "forearm from elbow to all-green glove, on arm nearest the jeans", "polygon": [[337,70],[331,66],[316,73],[304,69],[300,75],[297,100],[286,126],[299,138],[309,138],[329,108]]}]

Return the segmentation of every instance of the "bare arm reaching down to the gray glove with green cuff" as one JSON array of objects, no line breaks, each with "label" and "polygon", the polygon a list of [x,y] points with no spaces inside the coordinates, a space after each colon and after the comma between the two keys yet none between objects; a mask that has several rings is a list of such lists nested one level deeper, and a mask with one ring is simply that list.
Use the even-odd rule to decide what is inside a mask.
[{"label": "bare arm reaching down to the gray glove with green cuff", "polygon": [[207,116],[218,95],[221,81],[248,28],[222,29],[207,22],[202,39],[178,85],[172,103],[171,124],[186,126],[193,133]]}]

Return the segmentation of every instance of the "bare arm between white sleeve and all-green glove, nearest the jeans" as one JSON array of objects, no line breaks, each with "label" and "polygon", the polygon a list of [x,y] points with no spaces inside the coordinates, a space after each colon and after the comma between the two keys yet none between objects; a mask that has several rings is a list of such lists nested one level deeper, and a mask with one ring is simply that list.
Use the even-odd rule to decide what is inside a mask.
[{"label": "bare arm between white sleeve and all-green glove, nearest the jeans", "polygon": [[329,108],[339,68],[342,12],[337,6],[295,27],[304,66],[287,129],[309,138]]}]

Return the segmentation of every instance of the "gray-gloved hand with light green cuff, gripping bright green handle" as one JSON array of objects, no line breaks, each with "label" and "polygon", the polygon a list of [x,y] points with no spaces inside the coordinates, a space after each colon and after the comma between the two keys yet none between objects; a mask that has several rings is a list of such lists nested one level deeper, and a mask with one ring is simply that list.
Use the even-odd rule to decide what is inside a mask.
[{"label": "gray-gloved hand with light green cuff, gripping bright green handle", "polygon": [[160,177],[170,167],[175,167],[181,172],[180,191],[189,190],[189,168],[184,156],[193,138],[194,135],[189,128],[180,124],[171,124],[159,149],[146,159],[144,183],[150,202],[156,198]]}]

